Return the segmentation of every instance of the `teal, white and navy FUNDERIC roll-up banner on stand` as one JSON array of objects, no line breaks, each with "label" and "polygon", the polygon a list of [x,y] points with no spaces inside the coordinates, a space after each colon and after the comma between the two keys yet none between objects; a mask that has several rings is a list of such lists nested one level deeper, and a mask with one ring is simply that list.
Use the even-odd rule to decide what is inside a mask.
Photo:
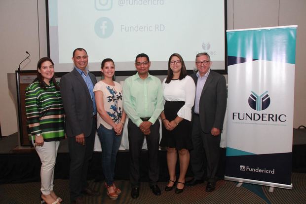
[{"label": "teal, white and navy FUNDERIC roll-up banner on stand", "polygon": [[296,32],[227,31],[226,180],[292,189]]}]

